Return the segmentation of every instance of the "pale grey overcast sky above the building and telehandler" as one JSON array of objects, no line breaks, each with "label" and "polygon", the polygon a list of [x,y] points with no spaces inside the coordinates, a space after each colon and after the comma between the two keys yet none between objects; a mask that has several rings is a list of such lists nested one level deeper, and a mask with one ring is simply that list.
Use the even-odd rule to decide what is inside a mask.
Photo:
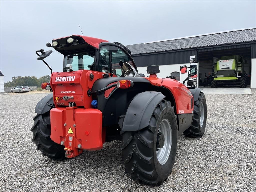
[{"label": "pale grey overcast sky above the building and telehandler", "polygon": [[[13,76],[50,74],[36,50],[52,39],[83,34],[121,42],[144,43],[256,26],[256,1],[0,1],[0,70]],[[54,50],[53,50],[54,51]],[[62,71],[63,56],[46,62]]]}]

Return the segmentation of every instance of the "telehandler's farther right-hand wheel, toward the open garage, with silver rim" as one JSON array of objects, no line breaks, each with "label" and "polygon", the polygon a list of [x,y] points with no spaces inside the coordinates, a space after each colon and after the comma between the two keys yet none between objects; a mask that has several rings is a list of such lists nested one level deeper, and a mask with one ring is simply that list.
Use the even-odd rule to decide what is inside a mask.
[{"label": "telehandler's farther right-hand wheel, toward the open garage, with silver rim", "polygon": [[194,102],[194,119],[191,127],[183,134],[188,137],[202,137],[205,133],[207,120],[207,105],[204,93],[200,93],[199,99]]}]

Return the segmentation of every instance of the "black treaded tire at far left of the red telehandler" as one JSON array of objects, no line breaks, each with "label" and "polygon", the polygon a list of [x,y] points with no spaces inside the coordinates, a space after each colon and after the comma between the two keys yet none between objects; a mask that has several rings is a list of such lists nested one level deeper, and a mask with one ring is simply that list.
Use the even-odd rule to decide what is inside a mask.
[{"label": "black treaded tire at far left of the red telehandler", "polygon": [[33,119],[34,126],[31,128],[33,132],[32,142],[36,144],[36,150],[41,151],[44,156],[50,159],[62,161],[66,159],[64,146],[53,142],[51,136],[50,112],[36,115]]}]

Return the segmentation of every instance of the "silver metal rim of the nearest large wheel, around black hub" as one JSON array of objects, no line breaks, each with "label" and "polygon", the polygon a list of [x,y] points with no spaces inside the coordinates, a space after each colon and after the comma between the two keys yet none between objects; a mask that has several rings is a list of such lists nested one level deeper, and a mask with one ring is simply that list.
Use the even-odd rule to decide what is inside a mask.
[{"label": "silver metal rim of the nearest large wheel, around black hub", "polygon": [[163,148],[156,149],[156,155],[158,162],[161,165],[164,165],[169,159],[172,148],[172,127],[170,122],[167,119],[164,119],[161,122],[158,131],[164,135],[165,141]]}]

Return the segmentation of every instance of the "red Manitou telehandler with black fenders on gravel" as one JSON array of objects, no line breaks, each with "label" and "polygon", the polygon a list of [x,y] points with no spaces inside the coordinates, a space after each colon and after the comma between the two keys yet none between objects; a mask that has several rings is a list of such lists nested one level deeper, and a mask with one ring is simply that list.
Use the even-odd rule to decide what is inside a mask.
[{"label": "red Manitou telehandler with black fenders on gravel", "polygon": [[[143,77],[130,50],[117,42],[72,35],[46,45],[64,62],[63,72],[42,84],[53,94],[35,109],[32,141],[44,156],[64,160],[118,140],[125,173],[162,185],[173,169],[178,135],[204,135],[207,109],[201,89],[158,78],[159,66],[148,66],[150,75]],[[38,60],[51,52],[36,51]],[[181,71],[187,73],[186,67]]]}]

